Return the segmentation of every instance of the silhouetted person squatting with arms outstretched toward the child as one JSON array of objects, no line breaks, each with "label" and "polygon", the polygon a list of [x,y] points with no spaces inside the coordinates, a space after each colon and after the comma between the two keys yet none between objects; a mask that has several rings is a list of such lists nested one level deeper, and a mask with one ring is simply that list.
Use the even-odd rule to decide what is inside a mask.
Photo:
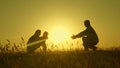
[{"label": "silhouetted person squatting with arms outstretched toward the child", "polygon": [[84,49],[86,51],[89,48],[91,48],[93,50],[96,50],[97,49],[96,45],[99,42],[98,36],[97,36],[95,30],[90,25],[90,21],[89,20],[85,20],[84,21],[84,25],[85,25],[86,29],[84,31],[78,33],[77,35],[73,35],[72,39],[76,39],[76,38],[81,38],[82,37],[83,46],[84,46]]}]

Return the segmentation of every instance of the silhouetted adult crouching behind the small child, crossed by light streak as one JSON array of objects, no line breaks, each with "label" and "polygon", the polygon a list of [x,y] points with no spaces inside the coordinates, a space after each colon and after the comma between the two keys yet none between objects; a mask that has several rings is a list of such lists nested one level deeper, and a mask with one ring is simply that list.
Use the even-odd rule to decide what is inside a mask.
[{"label": "silhouetted adult crouching behind the small child, crossed by light streak", "polygon": [[41,35],[41,30],[36,30],[34,35],[32,35],[28,42],[27,42],[27,51],[28,52],[34,52],[34,50],[36,50],[37,48],[40,47],[41,43],[39,42],[40,36]]}]

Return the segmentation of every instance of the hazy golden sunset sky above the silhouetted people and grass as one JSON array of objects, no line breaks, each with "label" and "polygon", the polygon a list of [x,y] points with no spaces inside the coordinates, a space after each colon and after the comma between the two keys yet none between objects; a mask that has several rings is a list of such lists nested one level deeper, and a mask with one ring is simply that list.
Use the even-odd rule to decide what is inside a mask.
[{"label": "hazy golden sunset sky above the silhouetted people and grass", "polygon": [[57,31],[70,37],[85,29],[86,19],[99,36],[99,47],[120,46],[120,0],[0,0],[0,42],[27,41],[37,29],[48,31],[49,39]]}]

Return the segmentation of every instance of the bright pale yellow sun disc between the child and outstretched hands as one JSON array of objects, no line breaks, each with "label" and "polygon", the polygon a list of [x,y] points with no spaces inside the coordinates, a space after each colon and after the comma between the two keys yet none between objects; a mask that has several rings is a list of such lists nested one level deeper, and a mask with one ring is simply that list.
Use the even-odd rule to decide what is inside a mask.
[{"label": "bright pale yellow sun disc between the child and outstretched hands", "polygon": [[57,27],[51,31],[50,36],[52,43],[61,43],[69,38],[69,31],[63,27]]}]

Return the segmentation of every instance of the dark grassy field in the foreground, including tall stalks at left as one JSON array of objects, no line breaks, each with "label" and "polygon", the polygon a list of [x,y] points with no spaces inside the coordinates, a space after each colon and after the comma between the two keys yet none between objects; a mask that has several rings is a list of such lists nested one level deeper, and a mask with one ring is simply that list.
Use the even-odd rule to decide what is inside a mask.
[{"label": "dark grassy field in the foreground, including tall stalks at left", "polygon": [[0,68],[120,68],[120,48],[27,53],[21,39],[18,45],[0,44]]}]

